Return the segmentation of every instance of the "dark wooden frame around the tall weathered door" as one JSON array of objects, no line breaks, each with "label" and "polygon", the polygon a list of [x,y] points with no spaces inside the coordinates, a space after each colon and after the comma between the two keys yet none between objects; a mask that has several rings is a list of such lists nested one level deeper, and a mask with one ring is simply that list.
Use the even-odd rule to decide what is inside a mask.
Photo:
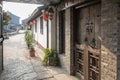
[{"label": "dark wooden frame around the tall weathered door", "polygon": [[[72,25],[71,25],[71,42],[72,42],[72,45],[71,45],[71,73],[72,75],[75,75],[76,71],[75,71],[75,36],[76,36],[76,21],[75,21],[75,15],[77,15],[76,13],[76,9],[81,9],[81,8],[84,8],[84,7],[89,7],[91,5],[94,5],[94,4],[100,4],[101,5],[101,0],[97,0],[97,1],[91,1],[91,2],[86,2],[84,4],[78,4],[78,5],[75,5],[71,8],[71,18],[72,18]],[[88,52],[87,52],[88,53]],[[100,51],[100,62],[101,62],[101,51]],[[87,65],[86,65],[87,66]],[[73,69],[74,68],[74,69]],[[101,80],[101,63],[100,63],[100,80]],[[85,80],[89,80],[88,79],[88,75],[85,76],[87,77]]]}]

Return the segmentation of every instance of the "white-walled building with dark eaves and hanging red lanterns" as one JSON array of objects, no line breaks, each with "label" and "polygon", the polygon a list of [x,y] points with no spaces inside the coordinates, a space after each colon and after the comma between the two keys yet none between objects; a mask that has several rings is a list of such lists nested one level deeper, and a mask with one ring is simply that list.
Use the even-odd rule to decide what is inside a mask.
[{"label": "white-walled building with dark eaves and hanging red lanterns", "polygon": [[29,27],[33,31],[34,39],[42,50],[45,48],[55,49],[55,26],[46,14],[48,7],[38,7],[28,20]]}]

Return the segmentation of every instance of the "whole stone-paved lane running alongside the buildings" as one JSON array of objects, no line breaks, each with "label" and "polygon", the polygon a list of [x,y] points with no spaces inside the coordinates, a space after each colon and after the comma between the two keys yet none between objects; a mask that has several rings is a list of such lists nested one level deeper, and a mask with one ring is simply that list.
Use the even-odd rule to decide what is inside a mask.
[{"label": "whole stone-paved lane running alongside the buildings", "polygon": [[24,34],[4,41],[4,70],[0,80],[79,80],[58,67],[42,65],[43,52],[35,46],[36,57],[29,57]]}]

